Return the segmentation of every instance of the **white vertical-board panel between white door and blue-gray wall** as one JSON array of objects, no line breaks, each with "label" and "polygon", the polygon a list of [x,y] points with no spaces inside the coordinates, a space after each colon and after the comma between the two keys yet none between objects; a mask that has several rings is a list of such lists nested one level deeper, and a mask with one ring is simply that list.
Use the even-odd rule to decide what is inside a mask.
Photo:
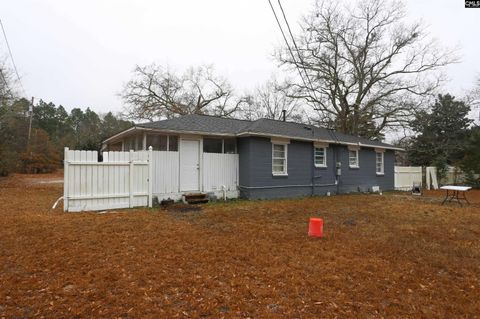
[{"label": "white vertical-board panel between white door and blue-gray wall", "polygon": [[238,154],[203,153],[203,188],[205,191],[236,191]]}]

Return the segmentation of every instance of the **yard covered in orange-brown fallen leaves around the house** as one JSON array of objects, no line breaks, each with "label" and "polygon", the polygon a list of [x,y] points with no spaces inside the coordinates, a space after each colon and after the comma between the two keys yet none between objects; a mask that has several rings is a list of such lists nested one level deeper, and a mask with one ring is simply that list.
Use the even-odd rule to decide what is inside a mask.
[{"label": "yard covered in orange-brown fallen leaves around the house", "polygon": [[[0,180],[0,317],[480,314],[480,192],[49,211],[56,175]],[[310,216],[324,239],[307,237]]]}]

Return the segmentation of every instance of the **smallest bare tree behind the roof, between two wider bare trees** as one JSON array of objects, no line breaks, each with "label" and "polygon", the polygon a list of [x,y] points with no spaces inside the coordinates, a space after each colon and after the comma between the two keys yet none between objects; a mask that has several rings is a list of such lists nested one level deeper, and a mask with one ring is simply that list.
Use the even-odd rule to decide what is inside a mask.
[{"label": "smallest bare tree behind the roof, between two wider bare trees", "polygon": [[291,96],[293,92],[289,90],[291,86],[288,83],[280,83],[275,76],[272,76],[243,99],[239,113],[249,120],[259,118],[281,120],[285,111],[287,119],[302,122],[306,118],[302,101],[293,98]]}]

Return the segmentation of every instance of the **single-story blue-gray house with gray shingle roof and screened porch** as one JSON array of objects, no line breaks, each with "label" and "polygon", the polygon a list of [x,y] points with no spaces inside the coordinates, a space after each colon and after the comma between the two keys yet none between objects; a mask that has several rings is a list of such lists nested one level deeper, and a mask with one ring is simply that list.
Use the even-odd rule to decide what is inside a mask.
[{"label": "single-story blue-gray house with gray shingle roof and screened porch", "polygon": [[242,198],[338,194],[371,191],[377,186],[393,190],[395,151],[402,150],[301,123],[207,115],[136,124],[103,144],[108,151],[150,146],[153,151],[178,153],[178,185],[169,194],[157,191],[161,198],[218,191],[221,185],[206,181],[206,174],[214,174],[211,165],[208,173],[203,171],[202,158],[208,153],[238,154],[235,191]]}]

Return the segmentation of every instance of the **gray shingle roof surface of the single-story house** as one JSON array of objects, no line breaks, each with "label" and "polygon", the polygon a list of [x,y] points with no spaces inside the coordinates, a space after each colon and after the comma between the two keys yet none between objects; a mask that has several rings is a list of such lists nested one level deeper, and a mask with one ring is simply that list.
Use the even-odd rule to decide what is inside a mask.
[{"label": "gray shingle roof surface of the single-story house", "polygon": [[137,124],[136,127],[155,130],[227,134],[232,136],[248,134],[283,136],[291,139],[336,141],[351,144],[361,143],[363,145],[397,149],[390,144],[338,133],[322,127],[271,119],[247,121],[191,114],[169,120]]}]

